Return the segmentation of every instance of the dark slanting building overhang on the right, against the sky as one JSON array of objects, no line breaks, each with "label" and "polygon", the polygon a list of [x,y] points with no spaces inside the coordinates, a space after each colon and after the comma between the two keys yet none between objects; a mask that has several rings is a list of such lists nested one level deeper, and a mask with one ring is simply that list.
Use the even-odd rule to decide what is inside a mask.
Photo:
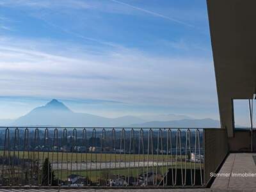
[{"label": "dark slanting building overhang on the right, against the sky", "polygon": [[221,127],[233,136],[232,99],[256,89],[256,1],[207,0],[207,7]]}]

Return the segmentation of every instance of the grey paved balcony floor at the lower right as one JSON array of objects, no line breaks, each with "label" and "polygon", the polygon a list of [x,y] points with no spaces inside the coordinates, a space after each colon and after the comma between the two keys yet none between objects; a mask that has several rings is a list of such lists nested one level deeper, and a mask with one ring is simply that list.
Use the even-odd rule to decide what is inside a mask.
[{"label": "grey paved balcony floor at the lower right", "polygon": [[[256,165],[253,161],[256,154],[239,153],[229,154],[219,173],[230,173],[229,177],[216,177],[211,189],[228,190],[255,190],[256,189]],[[232,173],[254,173],[254,177],[232,175]]]}]

